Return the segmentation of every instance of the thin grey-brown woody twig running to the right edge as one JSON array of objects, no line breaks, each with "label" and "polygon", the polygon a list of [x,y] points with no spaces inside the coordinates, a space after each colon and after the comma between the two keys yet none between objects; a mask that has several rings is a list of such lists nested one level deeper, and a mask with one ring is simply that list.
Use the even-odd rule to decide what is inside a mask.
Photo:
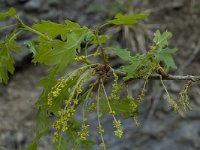
[{"label": "thin grey-brown woody twig running to the right edge", "polygon": [[[120,72],[118,70],[115,70],[115,73],[121,77],[125,77],[126,73]],[[151,80],[160,80],[160,74],[152,74],[149,76],[149,79]],[[142,77],[133,77],[129,80],[136,80],[136,79],[143,79]],[[171,75],[168,74],[168,76],[162,76],[162,80],[191,80],[193,82],[200,81],[200,76],[193,76],[193,75]]]}]

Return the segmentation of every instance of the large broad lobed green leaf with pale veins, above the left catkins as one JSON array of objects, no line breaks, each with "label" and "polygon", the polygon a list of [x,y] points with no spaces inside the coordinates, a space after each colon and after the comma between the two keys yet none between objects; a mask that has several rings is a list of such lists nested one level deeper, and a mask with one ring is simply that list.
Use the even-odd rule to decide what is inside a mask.
[{"label": "large broad lobed green leaf with pale veins, above the left catkins", "polygon": [[74,41],[73,36],[69,36],[67,42],[54,40],[52,42],[41,42],[36,45],[36,55],[33,62],[44,63],[47,65],[69,64],[76,56],[76,50],[80,47],[81,40]]}]

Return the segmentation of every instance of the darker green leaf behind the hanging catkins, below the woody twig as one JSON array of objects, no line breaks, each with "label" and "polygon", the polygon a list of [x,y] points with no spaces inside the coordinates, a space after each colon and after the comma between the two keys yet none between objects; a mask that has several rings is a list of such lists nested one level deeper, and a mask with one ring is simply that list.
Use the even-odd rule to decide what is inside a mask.
[{"label": "darker green leaf behind the hanging catkins, below the woody twig", "polygon": [[[129,105],[130,101],[128,99],[122,99],[120,101],[110,101],[110,105],[113,111],[116,114],[120,114],[124,119],[132,117],[132,108]],[[110,109],[107,104],[107,100],[101,100],[100,105],[102,108],[102,113],[105,115],[110,112]]]}]

